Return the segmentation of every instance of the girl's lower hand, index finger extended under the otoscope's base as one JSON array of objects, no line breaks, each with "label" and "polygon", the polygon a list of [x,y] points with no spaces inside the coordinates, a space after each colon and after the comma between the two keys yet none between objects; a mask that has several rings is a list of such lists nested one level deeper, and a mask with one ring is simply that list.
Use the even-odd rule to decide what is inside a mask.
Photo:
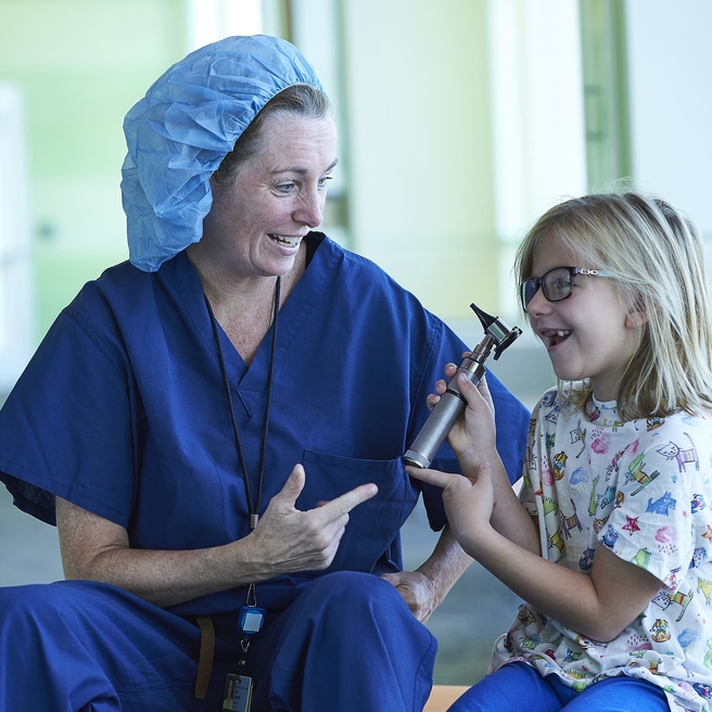
[{"label": "girl's lower hand, index finger extended under the otoscope's base", "polygon": [[470,554],[473,550],[470,542],[478,538],[478,532],[483,527],[491,526],[495,495],[490,463],[482,462],[472,478],[422,470],[410,465],[406,466],[406,472],[416,480],[443,487],[447,521],[460,546]]}]

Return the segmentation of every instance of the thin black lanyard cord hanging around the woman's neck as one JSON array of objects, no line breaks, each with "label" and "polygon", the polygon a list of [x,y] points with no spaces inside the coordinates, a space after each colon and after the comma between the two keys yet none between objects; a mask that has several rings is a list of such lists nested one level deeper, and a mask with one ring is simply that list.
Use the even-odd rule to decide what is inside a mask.
[{"label": "thin black lanyard cord hanging around the woman's neck", "polygon": [[240,440],[240,431],[238,430],[238,421],[234,417],[234,406],[232,404],[232,390],[230,387],[230,379],[228,377],[227,368],[225,367],[225,356],[223,354],[223,346],[220,344],[220,336],[218,332],[217,319],[213,307],[205,295],[205,304],[207,312],[211,315],[211,323],[213,325],[213,335],[215,336],[215,344],[217,346],[218,361],[220,363],[220,372],[223,373],[223,384],[225,385],[225,394],[228,399],[228,407],[230,409],[230,420],[232,422],[232,433],[234,435],[234,443],[238,448],[238,457],[240,459],[240,467],[242,468],[242,475],[245,483],[245,493],[247,495],[247,506],[250,508],[250,531],[254,530],[257,525],[257,517],[259,514],[259,506],[262,505],[263,482],[265,476],[265,461],[267,459],[267,437],[269,434],[269,411],[272,404],[272,382],[275,379],[275,356],[277,354],[277,321],[279,316],[279,301],[280,301],[280,287],[281,279],[278,277],[275,283],[275,304],[272,307],[272,343],[269,354],[269,371],[267,373],[267,395],[265,400],[265,428],[262,435],[262,452],[259,454],[259,474],[257,476],[257,501],[253,503],[252,488],[250,486],[250,478],[247,475],[247,465],[244,459],[244,450],[242,449],[242,442]]}]

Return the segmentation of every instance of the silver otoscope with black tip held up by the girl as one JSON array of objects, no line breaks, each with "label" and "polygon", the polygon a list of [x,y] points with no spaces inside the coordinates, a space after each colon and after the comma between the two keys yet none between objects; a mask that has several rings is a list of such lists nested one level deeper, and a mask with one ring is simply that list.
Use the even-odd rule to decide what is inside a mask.
[{"label": "silver otoscope with black tip held up by the girl", "polygon": [[501,352],[522,333],[519,327],[510,329],[499,317],[491,316],[474,304],[470,304],[470,308],[482,322],[484,339],[457,367],[455,376],[447,384],[447,390],[432,409],[410,449],[403,456],[408,465],[429,468],[443,441],[447,437],[447,433],[450,432],[450,428],[465,409],[467,400],[457,386],[457,377],[465,373],[468,380],[476,385],[484,374],[484,363],[492,349],[494,348],[495,360],[497,360],[501,356]]}]

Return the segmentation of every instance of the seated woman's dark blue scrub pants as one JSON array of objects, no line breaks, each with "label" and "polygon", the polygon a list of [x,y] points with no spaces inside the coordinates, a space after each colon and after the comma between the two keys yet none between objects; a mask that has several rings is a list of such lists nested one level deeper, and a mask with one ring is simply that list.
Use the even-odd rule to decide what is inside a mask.
[{"label": "seated woman's dark blue scrub pants", "polygon": [[[253,712],[420,712],[437,644],[371,574],[315,578],[253,638]],[[114,586],[0,588],[0,712],[219,712],[240,654],[237,614],[213,616],[207,698],[194,699],[200,631]]]}]

